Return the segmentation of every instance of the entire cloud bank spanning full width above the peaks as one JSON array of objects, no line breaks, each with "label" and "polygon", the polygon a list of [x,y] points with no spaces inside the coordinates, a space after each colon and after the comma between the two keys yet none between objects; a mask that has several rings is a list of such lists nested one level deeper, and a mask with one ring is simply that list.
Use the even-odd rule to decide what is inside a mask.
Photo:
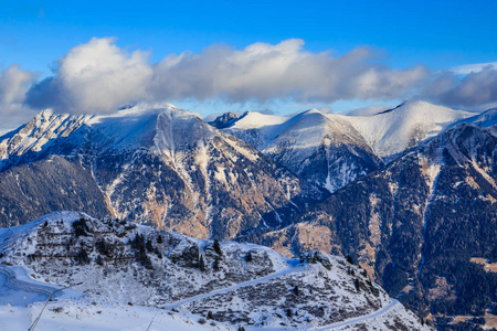
[{"label": "entire cloud bank spanning full width above the peaks", "polygon": [[187,102],[199,104],[199,109],[207,103],[264,109],[274,103],[318,107],[337,100],[382,104],[412,97],[473,110],[497,104],[495,63],[442,73],[422,65],[394,68],[369,47],[341,55],[310,52],[299,39],[244,49],[214,44],[150,63],[148,52],[121,49],[115,38],[93,38],[62,56],[52,76],[35,79],[15,65],[0,71],[0,132],[39,109],[103,114],[144,100]]}]

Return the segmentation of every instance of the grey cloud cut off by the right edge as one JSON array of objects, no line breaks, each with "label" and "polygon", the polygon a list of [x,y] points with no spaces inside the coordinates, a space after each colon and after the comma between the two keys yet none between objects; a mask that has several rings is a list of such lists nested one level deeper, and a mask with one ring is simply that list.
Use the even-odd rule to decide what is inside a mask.
[{"label": "grey cloud cut off by the right edge", "polygon": [[489,107],[497,103],[497,66],[489,64],[463,77],[445,72],[429,85],[422,97],[451,107]]}]

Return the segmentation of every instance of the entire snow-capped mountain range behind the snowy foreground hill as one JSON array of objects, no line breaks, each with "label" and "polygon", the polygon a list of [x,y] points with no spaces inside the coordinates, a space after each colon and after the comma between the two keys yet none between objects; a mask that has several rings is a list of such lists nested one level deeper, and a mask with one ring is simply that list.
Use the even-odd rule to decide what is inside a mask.
[{"label": "entire snow-capped mountain range behind the snowy foreground hill", "polygon": [[0,137],[0,224],[75,210],[288,257],[319,249],[350,256],[440,329],[483,316],[489,328],[496,116],[425,102],[211,124],[168,104],[45,110]]}]

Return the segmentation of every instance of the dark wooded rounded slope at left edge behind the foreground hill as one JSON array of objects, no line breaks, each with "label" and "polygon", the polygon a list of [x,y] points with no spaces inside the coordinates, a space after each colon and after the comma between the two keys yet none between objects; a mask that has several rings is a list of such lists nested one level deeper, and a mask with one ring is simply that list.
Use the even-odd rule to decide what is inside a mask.
[{"label": "dark wooded rounded slope at left edge behind the foreground hill", "polygon": [[0,226],[65,209],[113,212],[91,171],[78,160],[49,156],[0,172]]}]

